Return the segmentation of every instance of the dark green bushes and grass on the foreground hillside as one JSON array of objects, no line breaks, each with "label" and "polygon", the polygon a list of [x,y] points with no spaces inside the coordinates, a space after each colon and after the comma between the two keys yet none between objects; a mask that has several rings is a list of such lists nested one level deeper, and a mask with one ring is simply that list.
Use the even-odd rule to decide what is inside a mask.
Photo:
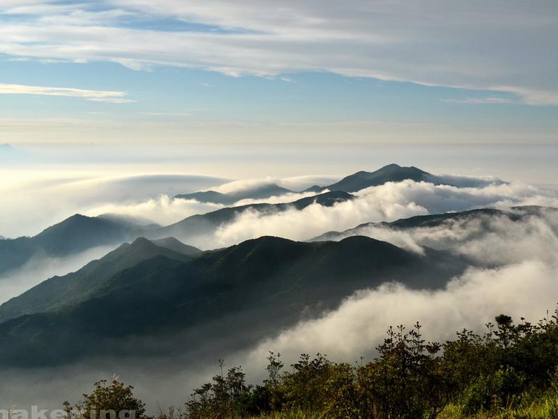
[{"label": "dark green bushes and grass on the foreground hillside", "polygon": [[[241,367],[223,371],[220,361],[211,383],[158,419],[558,418],[558,309],[536,324],[501,314],[486,327],[444,344],[425,341],[418,323],[389,328],[368,363],[303,354],[285,369],[270,352],[260,385],[246,383]],[[144,406],[131,391],[116,380],[97,383],[85,401],[98,409],[127,409],[121,400]]]}]

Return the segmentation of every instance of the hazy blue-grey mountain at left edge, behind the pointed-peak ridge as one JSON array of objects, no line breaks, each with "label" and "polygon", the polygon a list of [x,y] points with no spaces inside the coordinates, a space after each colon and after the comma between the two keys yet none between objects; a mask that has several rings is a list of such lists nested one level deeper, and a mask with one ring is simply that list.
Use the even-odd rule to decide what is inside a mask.
[{"label": "hazy blue-grey mountain at left edge, behind the pointed-peak ridge", "polygon": [[121,244],[143,230],[144,226],[126,220],[75,214],[34,237],[1,240],[0,274],[22,266],[33,256],[63,257],[92,247]]}]

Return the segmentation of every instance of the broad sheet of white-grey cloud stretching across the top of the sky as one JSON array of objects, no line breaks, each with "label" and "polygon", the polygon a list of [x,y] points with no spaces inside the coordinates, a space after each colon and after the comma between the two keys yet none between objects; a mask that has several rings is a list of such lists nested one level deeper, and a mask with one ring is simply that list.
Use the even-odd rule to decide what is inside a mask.
[{"label": "broad sheet of white-grey cloud stretching across the top of the sky", "polygon": [[[0,52],[17,57],[114,61],[135,69],[197,67],[233,76],[332,71],[558,104],[552,43],[558,14],[551,0],[529,6],[520,0],[106,0],[103,10],[30,1],[0,10],[13,13],[18,4],[28,20],[0,28]],[[121,27],[122,17],[138,24]],[[223,30],[137,29],[146,19]]]}]

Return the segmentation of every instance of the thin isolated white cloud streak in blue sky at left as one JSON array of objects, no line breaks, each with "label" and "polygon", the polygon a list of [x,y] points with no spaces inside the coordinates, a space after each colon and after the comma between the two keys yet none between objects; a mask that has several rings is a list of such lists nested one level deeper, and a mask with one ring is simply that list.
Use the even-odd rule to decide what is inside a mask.
[{"label": "thin isolated white cloud streak in blue sky at left", "polygon": [[88,101],[109,103],[131,103],[126,91],[88,90],[73,87],[43,87],[27,84],[0,84],[0,94],[34,94],[40,96],[67,96]]}]

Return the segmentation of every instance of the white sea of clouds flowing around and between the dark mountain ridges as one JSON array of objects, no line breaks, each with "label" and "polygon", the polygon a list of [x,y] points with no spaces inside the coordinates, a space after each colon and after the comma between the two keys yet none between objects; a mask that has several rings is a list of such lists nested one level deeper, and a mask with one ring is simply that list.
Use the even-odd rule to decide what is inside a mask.
[{"label": "white sea of clouds flowing around and between the dark mountain ridges", "polygon": [[[455,176],[452,179],[457,179]],[[301,190],[314,179],[303,179],[296,186]],[[220,184],[220,191],[231,193],[281,179]],[[209,183],[209,182],[208,182]],[[326,184],[323,182],[322,184]],[[295,187],[289,185],[292,189]],[[340,307],[324,312],[317,318],[306,319],[292,328],[269,336],[251,348],[238,353],[219,353],[227,366],[243,365],[248,378],[264,376],[268,351],[282,353],[286,364],[300,353],[326,353],[333,360],[353,362],[361,356],[375,357],[375,347],[381,343],[389,325],[411,327],[416,321],[423,325],[425,338],[444,341],[455,332],[469,328],[485,330],[485,323],[500,313],[510,314],[515,321],[523,316],[536,321],[552,311],[558,303],[558,213],[552,210],[536,212],[520,221],[508,216],[479,216],[447,221],[435,227],[396,230],[380,225],[359,226],[362,223],[393,221],[414,215],[456,212],[479,207],[495,207],[506,211],[515,205],[558,207],[556,191],[528,184],[506,183],[492,178],[463,178],[461,187],[435,185],[428,182],[388,183],[363,189],[356,198],[332,207],[313,204],[303,210],[285,212],[248,211],[216,231],[203,237],[179,237],[188,244],[213,249],[235,244],[261,235],[278,235],[293,240],[310,240],[326,231],[338,231],[333,240],[349,235],[367,235],[391,242],[399,247],[423,253],[423,246],[451,251],[471,260],[471,267],[460,277],[453,278],[437,291],[409,290],[400,284],[384,284],[365,289],[347,298]],[[285,186],[288,187],[288,186]],[[306,193],[273,197],[266,201],[284,202],[307,196]],[[259,201],[254,201],[259,202]],[[244,202],[246,203],[246,201]],[[190,210],[202,207],[197,201],[173,200],[169,194],[151,196],[126,203],[91,205],[89,214],[116,212],[153,219],[150,214],[161,213],[154,221],[176,221],[174,217],[188,216]],[[205,205],[205,204],[203,204]],[[209,206],[204,210],[211,210]],[[110,210],[110,211],[109,211]],[[72,269],[84,262],[74,260]],[[56,272],[56,263],[49,273]],[[37,265],[29,265],[34,270]],[[69,267],[63,267],[68,269]],[[63,273],[63,272],[62,272]],[[0,286],[2,281],[0,280]],[[28,283],[31,285],[32,283]],[[107,364],[109,365],[109,364]],[[10,372],[10,388],[4,388],[7,399],[21,399],[36,389],[35,397],[45,403],[55,401],[60,391],[43,390],[44,383],[56,376],[67,395],[79,396],[92,381],[110,378],[113,373],[136,385],[137,394],[156,406],[179,405],[188,398],[190,390],[208,380],[218,371],[217,364],[209,366],[176,365],[161,359],[153,368],[139,367],[133,362],[121,367],[77,365],[68,368],[42,369],[33,372]],[[31,387],[29,387],[31,385]]]}]

